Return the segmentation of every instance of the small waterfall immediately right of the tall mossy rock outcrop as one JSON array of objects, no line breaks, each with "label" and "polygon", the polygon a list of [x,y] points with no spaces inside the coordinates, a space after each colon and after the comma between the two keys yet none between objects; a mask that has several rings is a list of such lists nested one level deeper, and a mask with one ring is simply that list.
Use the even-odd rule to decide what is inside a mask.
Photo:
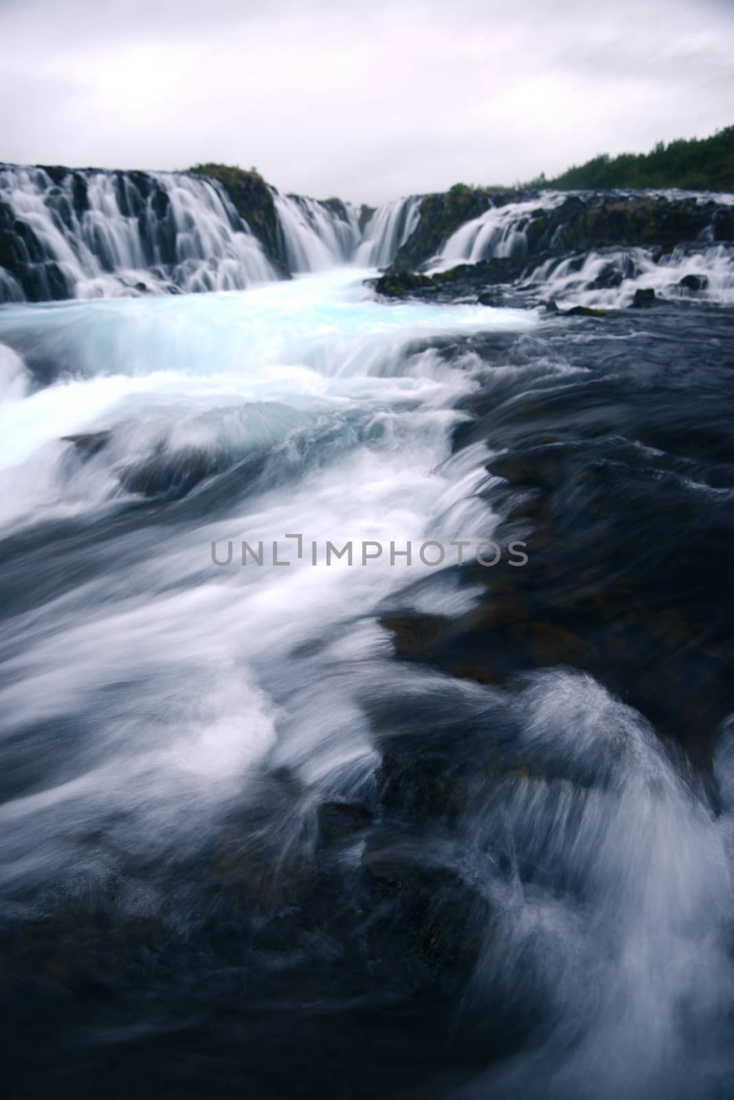
[{"label": "small waterfall immediately right of the tall mossy rock outcrop", "polygon": [[277,191],[274,201],[292,272],[326,271],[353,258],[359,227],[349,204],[337,199],[320,202]]}]

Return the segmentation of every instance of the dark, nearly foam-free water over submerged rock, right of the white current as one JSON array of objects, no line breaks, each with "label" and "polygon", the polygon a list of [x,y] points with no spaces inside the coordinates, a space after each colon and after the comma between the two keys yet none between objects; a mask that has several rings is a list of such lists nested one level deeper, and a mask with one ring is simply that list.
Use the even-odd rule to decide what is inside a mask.
[{"label": "dark, nearly foam-free water over submerged rock, right of the white current", "polygon": [[[427,624],[415,616],[418,640],[412,615],[396,614],[393,634],[403,659],[504,692],[538,669],[588,672],[705,773],[734,710],[732,362],[722,354],[731,318],[720,315],[712,333],[708,315],[700,327],[691,317],[656,314],[655,332],[645,322],[629,360],[615,332],[630,315],[610,316],[566,345],[585,371],[563,387],[475,395],[481,419],[459,429],[457,446],[504,448],[488,462],[501,479],[486,491],[503,517],[492,537],[526,541],[529,563],[501,572],[468,562],[467,583],[486,591],[479,610]],[[488,364],[512,361],[499,341],[472,346]],[[451,806],[444,781],[432,783],[438,793],[424,804]],[[430,785],[421,779],[421,790]]]}]

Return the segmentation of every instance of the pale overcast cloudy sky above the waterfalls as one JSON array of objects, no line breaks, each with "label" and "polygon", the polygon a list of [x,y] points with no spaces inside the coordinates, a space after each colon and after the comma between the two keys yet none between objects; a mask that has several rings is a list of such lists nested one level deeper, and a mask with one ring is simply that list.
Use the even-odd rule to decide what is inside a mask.
[{"label": "pale overcast cloudy sky above the waterfalls", "polygon": [[734,0],[0,0],[0,161],[379,202],[734,122]]}]

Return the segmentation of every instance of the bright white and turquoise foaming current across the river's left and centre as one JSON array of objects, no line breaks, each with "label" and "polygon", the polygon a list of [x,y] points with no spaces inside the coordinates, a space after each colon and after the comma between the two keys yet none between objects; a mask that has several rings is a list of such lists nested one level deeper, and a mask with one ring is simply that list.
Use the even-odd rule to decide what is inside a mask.
[{"label": "bright white and turquoise foaming current across the river's left and centre", "polygon": [[[393,307],[371,298],[364,274],[0,314],[0,334],[29,349],[31,370],[57,354],[64,375],[0,406],[0,521],[22,532],[76,518],[91,539],[79,584],[62,583],[43,614],[5,623],[5,737],[48,723],[69,732],[49,748],[41,788],[0,809],[7,884],[63,878],[71,866],[103,873],[103,857],[76,851],[80,822],[107,822],[129,851],[142,851],[152,828],[184,848],[202,843],[266,755],[322,790],[353,789],[374,768],[358,696],[376,667],[362,654],[387,661],[389,642],[362,618],[407,579],[436,571],[392,568],[387,551],[369,568],[326,568],[325,541],[354,540],[358,554],[367,539],[402,548],[490,536],[483,448],[458,466],[451,459],[465,416],[455,405],[476,387],[478,361],[447,363],[420,342],[488,326],[520,334],[536,318]],[[59,438],[84,431],[109,437],[90,452]],[[126,534],[98,543],[111,509],[145,503],[125,487],[131,466],[191,452],[260,465],[197,512],[204,479],[184,502],[194,509],[186,524],[175,504],[157,513],[163,528],[133,512]],[[303,560],[291,552],[288,568],[212,564],[212,541],[223,551],[233,540],[236,562],[242,540],[269,548],[288,531],[316,541],[318,566],[310,549]],[[63,563],[53,569],[65,575]],[[449,585],[442,598],[461,607],[467,594]],[[327,729],[315,683],[330,697]]]}]

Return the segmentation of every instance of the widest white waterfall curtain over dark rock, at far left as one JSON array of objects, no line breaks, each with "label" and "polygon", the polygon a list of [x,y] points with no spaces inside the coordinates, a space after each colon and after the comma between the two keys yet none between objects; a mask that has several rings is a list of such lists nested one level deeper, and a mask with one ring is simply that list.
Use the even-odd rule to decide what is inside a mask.
[{"label": "widest white waterfall curtain over dark rock, at far left", "polygon": [[[4,233],[3,233],[4,230]],[[242,289],[273,278],[214,180],[177,173],[0,168],[0,301]]]}]

